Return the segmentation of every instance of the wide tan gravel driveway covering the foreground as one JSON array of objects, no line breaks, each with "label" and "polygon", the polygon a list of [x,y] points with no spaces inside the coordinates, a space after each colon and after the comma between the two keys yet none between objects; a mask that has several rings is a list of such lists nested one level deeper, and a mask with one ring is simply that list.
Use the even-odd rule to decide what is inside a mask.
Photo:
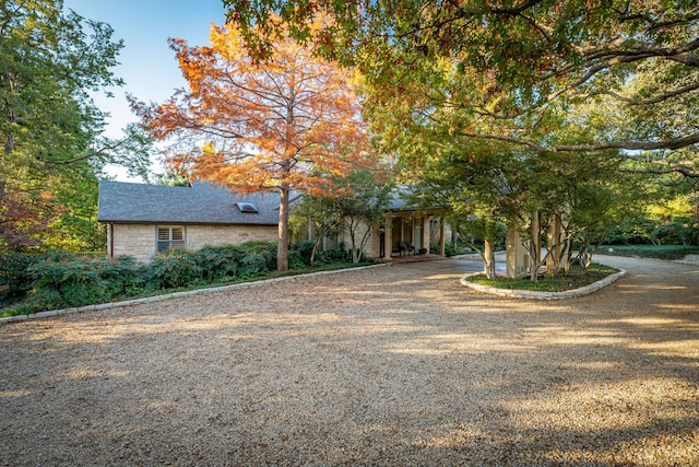
[{"label": "wide tan gravel driveway covering the foreground", "polygon": [[0,465],[699,465],[699,266],[411,265],[0,326]]}]

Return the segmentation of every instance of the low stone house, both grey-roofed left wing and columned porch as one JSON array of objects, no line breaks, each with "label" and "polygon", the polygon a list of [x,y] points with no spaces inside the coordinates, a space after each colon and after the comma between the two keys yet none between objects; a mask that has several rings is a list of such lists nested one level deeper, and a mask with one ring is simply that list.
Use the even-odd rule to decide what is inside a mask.
[{"label": "low stone house, both grey-roofed left wing and columned porch", "polygon": [[[275,242],[279,203],[275,192],[241,196],[204,183],[170,187],[103,180],[97,220],[107,224],[109,257],[132,256],[147,262],[158,252],[175,247],[197,250],[248,241]],[[430,243],[439,243],[443,255],[445,224],[439,215],[439,210],[416,210],[396,197],[382,225],[360,225],[357,241],[367,234],[363,253],[371,259],[429,250]],[[323,249],[334,249],[339,243],[352,247],[347,231],[325,240]],[[413,249],[405,252],[401,245]]]}]

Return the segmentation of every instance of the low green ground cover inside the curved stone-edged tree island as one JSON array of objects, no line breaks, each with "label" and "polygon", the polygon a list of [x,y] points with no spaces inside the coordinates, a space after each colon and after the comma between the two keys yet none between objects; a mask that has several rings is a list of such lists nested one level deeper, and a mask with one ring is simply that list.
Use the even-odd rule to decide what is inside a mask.
[{"label": "low green ground cover inside the curved stone-edged tree island", "polygon": [[470,276],[466,280],[469,282],[495,287],[498,289],[530,290],[535,292],[564,292],[566,290],[580,289],[581,287],[597,282],[599,280],[616,272],[619,272],[619,270],[609,266],[593,262],[587,271],[579,266],[573,266],[566,275],[561,273],[556,278],[547,275],[540,276],[536,282],[532,282],[530,279],[488,279],[485,275]]}]

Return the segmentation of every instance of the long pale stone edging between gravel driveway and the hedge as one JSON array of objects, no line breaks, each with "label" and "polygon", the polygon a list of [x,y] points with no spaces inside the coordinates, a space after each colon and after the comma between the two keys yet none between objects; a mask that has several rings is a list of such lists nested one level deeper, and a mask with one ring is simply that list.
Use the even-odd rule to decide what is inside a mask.
[{"label": "long pale stone edging between gravel driveway and the hedge", "polygon": [[251,287],[266,285],[266,284],[276,283],[276,282],[286,282],[286,281],[303,279],[307,277],[334,275],[334,273],[348,272],[348,271],[360,271],[363,269],[378,268],[382,266],[388,266],[388,264],[383,262],[378,265],[362,266],[357,268],[333,269],[329,271],[309,272],[306,275],[301,273],[301,275],[285,276],[285,277],[273,278],[273,279],[262,279],[262,280],[252,281],[252,282],[240,282],[240,283],[234,283],[230,285],[210,287],[206,289],[188,290],[183,292],[173,292],[173,293],[166,293],[163,295],[146,296],[143,299],[125,300],[122,302],[109,302],[109,303],[99,303],[96,305],[78,306],[74,308],[51,310],[48,312],[35,313],[33,315],[8,316],[4,318],[0,318],[0,325],[16,323],[16,322],[48,318],[48,317],[60,316],[60,315],[72,315],[75,313],[93,312],[97,310],[116,308],[120,306],[139,305],[141,303],[153,303],[153,302],[159,302],[162,300],[179,299],[182,296],[204,295],[209,293],[226,292],[226,291],[236,290],[236,289],[248,289]]}]

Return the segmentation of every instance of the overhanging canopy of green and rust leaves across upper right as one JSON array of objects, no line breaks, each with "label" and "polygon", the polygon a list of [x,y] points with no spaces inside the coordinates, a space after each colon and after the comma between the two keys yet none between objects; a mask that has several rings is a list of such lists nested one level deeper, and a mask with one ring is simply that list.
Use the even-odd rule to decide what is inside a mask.
[{"label": "overhanging canopy of green and rust leaves across upper right", "polygon": [[[462,136],[534,151],[652,151],[670,170],[698,175],[696,1],[223,2],[258,57],[287,27],[318,54],[357,67],[377,98],[404,98],[447,62],[447,85],[414,98],[463,109],[469,118],[454,128]],[[331,20],[309,27],[318,15]],[[577,142],[546,138],[552,112],[585,103],[596,104],[585,124],[604,121],[605,131]]]}]

